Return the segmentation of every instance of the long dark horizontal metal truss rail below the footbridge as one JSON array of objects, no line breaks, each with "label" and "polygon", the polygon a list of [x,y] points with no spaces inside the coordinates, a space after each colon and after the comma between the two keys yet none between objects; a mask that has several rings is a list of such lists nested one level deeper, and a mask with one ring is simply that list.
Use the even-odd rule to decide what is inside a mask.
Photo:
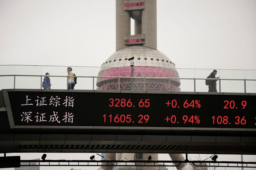
[{"label": "long dark horizontal metal truss rail below the footbridge", "polygon": [[[206,160],[20,160],[20,166],[180,166],[192,163],[196,167],[246,167],[255,168],[256,162],[206,161]],[[115,165],[113,165],[113,163]],[[121,163],[121,164],[120,164]],[[133,163],[133,164],[131,164]]]}]

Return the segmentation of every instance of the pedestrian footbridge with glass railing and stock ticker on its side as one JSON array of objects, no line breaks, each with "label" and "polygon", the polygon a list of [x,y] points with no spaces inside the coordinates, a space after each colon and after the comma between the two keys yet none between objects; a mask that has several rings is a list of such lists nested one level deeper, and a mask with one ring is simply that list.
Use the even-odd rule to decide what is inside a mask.
[{"label": "pedestrian footbridge with glass railing and stock ticker on its side", "polygon": [[[67,90],[64,66],[24,67],[0,66],[2,153],[256,154],[255,70],[218,70],[218,92],[204,83],[211,70],[179,70],[180,92],[156,92],[96,90],[87,67],[73,67],[79,84]],[[51,89],[41,87],[46,70]]]}]

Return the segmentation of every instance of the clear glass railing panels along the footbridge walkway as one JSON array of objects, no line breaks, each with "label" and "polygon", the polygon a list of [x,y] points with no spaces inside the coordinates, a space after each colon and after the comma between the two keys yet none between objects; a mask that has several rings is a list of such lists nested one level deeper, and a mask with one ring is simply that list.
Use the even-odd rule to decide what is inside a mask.
[{"label": "clear glass railing panels along the footbridge walkway", "polygon": [[[71,66],[72,67],[72,66]],[[98,73],[101,67],[72,67],[76,74],[76,90],[96,90]],[[33,65],[1,65],[0,66],[0,90],[1,89],[42,89],[42,81],[46,72],[50,73],[51,89],[67,89],[67,66],[33,66]],[[170,82],[180,80],[181,92],[207,92],[208,86],[205,79],[213,69],[176,69],[179,78],[152,78],[133,77],[136,82],[140,79],[143,83],[142,90],[147,90],[147,79],[162,79]],[[256,70],[217,70],[216,77],[218,92],[247,92],[256,93]],[[120,90],[122,80],[131,77],[104,77],[116,79],[117,88]],[[168,83],[167,83],[168,84]],[[171,89],[167,91],[172,91]]]}]

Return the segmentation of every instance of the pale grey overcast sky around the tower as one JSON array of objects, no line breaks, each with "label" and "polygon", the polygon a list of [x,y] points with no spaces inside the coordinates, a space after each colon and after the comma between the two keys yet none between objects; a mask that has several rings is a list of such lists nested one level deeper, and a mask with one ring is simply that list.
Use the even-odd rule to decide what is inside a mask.
[{"label": "pale grey overcast sky around the tower", "polygon": [[[0,0],[0,64],[100,67],[115,19],[115,0]],[[177,68],[256,70],[256,0],[158,0],[157,48]]]}]

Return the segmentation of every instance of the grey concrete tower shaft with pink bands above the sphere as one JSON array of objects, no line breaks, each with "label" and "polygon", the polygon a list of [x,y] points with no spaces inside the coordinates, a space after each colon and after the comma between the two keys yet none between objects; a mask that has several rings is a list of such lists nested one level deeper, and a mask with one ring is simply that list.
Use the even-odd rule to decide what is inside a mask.
[{"label": "grey concrete tower shaft with pink bands above the sphere", "polygon": [[116,0],[116,51],[131,45],[157,49],[156,28],[156,0]]}]

